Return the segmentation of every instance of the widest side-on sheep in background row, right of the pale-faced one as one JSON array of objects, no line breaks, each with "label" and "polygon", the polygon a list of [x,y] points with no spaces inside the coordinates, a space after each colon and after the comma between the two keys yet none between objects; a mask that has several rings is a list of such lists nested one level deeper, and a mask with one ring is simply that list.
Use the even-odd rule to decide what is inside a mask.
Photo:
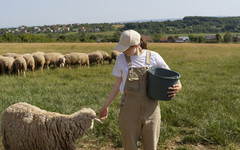
[{"label": "widest side-on sheep in background row, right of the pale-faced one", "polygon": [[66,66],[79,64],[80,67],[86,64],[89,67],[89,57],[85,53],[70,53],[64,55]]}]

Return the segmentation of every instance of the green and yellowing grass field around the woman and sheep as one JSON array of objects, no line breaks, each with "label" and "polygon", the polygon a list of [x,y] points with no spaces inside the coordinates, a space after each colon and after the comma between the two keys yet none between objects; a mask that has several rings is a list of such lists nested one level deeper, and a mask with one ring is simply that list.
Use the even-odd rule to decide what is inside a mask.
[{"label": "green and yellowing grass field around the woman and sheep", "polygon": [[[0,44],[7,52],[111,52],[116,43]],[[159,149],[240,149],[240,44],[149,44],[172,70],[179,72],[182,91],[160,101]],[[82,107],[97,113],[113,85],[113,65],[57,68],[27,77],[0,76],[0,114],[24,101],[48,111],[71,114]],[[95,123],[79,140],[79,149],[121,149],[119,94],[104,124]],[[95,143],[95,144],[94,144]],[[141,144],[139,143],[139,147]],[[0,144],[0,149],[2,145]]]}]

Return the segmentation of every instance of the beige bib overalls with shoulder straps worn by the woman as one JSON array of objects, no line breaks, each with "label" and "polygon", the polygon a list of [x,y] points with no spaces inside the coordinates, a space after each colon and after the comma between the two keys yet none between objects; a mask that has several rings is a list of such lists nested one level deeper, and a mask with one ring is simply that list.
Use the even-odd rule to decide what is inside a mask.
[{"label": "beige bib overalls with shoulder straps worn by the woman", "polygon": [[[126,56],[128,66],[130,57]],[[150,65],[151,52],[147,51],[146,64]],[[142,136],[144,150],[156,150],[160,133],[161,115],[157,100],[147,96],[148,67],[129,68],[122,95],[119,125],[125,150],[137,150]]]}]

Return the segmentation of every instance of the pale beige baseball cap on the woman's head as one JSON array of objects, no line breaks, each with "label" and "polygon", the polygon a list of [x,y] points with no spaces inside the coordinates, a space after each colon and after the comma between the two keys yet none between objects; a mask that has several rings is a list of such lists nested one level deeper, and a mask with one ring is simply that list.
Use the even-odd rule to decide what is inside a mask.
[{"label": "pale beige baseball cap on the woman's head", "polygon": [[115,50],[123,52],[130,46],[138,45],[140,43],[141,35],[134,30],[126,30],[122,32],[119,43],[115,46]]}]

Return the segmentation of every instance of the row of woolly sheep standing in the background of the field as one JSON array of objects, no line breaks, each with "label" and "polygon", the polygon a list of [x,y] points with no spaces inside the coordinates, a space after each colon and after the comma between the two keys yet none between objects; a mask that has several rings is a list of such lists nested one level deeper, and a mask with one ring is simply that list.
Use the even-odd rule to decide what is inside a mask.
[{"label": "row of woolly sheep standing in the background of the field", "polygon": [[0,55],[0,73],[5,74],[7,72],[9,75],[12,73],[17,73],[18,75],[23,73],[26,76],[27,69],[32,71],[40,69],[43,72],[43,68],[49,69],[51,65],[54,67],[71,67],[75,65],[81,67],[82,65],[87,65],[89,67],[94,62],[101,65],[104,61],[108,61],[111,64],[112,59],[116,59],[117,55],[119,55],[117,51],[112,51],[111,55],[105,51],[94,51],[88,54],[72,52],[65,55],[56,52],[6,53],[3,56]]}]

